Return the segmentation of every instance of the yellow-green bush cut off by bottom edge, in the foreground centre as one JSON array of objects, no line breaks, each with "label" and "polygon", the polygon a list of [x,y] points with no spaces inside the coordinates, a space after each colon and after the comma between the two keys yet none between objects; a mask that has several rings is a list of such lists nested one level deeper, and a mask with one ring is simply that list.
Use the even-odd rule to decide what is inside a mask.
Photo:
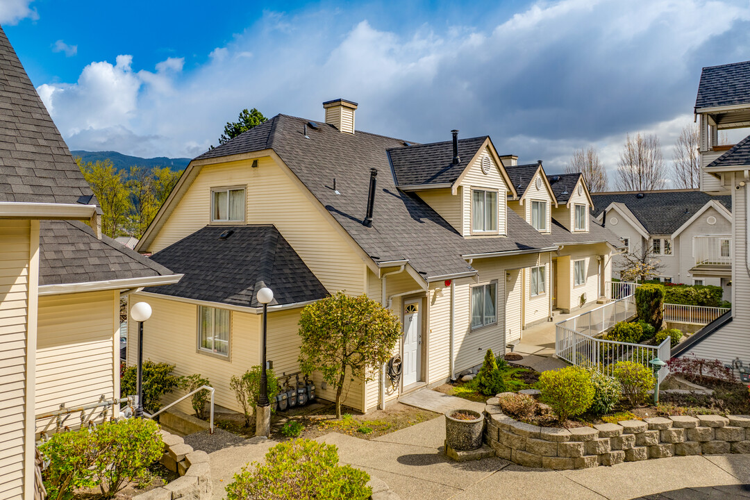
[{"label": "yellow-green bush cut off by bottom edge, in the foreground centre", "polygon": [[338,465],[338,451],[296,439],[271,448],[265,463],[248,464],[226,487],[227,500],[366,500],[370,476]]}]

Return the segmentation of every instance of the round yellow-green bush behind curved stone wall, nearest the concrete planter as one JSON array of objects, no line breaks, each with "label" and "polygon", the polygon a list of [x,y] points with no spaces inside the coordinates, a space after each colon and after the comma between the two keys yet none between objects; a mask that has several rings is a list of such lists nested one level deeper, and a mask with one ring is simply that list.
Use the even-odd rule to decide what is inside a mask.
[{"label": "round yellow-green bush behind curved stone wall, nearest the concrete planter", "polygon": [[552,408],[561,423],[586,412],[595,394],[589,373],[580,367],[541,373],[539,389],[541,400]]}]

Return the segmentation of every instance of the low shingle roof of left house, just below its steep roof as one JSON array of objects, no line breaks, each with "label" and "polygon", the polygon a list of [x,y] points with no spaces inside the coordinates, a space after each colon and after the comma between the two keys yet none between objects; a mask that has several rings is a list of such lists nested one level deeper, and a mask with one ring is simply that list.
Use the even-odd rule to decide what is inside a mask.
[{"label": "low shingle roof of left house, just below its steep roof", "polygon": [[42,220],[39,284],[57,285],[164,276],[172,271],[112,238],[96,238],[77,220]]}]

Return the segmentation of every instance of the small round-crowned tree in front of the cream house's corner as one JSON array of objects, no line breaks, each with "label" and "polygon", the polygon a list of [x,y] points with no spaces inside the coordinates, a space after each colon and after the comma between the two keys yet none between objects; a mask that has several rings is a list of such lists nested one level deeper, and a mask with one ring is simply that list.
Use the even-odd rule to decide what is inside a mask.
[{"label": "small round-crowned tree in front of the cream house's corner", "polygon": [[373,380],[380,365],[391,357],[401,337],[401,324],[367,295],[350,297],[337,292],[302,310],[299,335],[300,369],[320,372],[336,388],[336,418],[341,418],[347,375],[351,380]]}]

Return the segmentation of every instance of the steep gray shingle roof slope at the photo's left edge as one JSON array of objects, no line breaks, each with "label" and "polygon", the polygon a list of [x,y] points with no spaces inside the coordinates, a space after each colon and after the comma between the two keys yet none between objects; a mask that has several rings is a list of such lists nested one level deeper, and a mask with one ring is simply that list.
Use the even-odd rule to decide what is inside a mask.
[{"label": "steep gray shingle roof slope at the photo's left edge", "polygon": [[0,202],[95,203],[90,196],[91,187],[0,28]]}]

